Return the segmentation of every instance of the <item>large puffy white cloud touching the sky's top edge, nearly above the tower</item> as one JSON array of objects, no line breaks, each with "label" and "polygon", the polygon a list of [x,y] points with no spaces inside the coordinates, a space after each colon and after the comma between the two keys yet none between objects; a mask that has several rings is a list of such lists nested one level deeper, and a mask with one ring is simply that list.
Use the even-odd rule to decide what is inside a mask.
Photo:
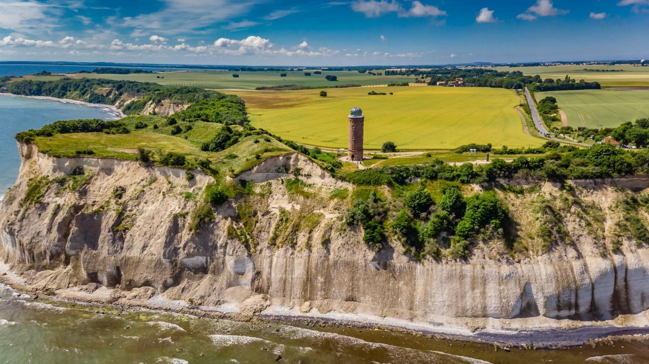
[{"label": "large puffy white cloud touching the sky's top edge, nearly above the tower", "polygon": [[445,16],[447,12],[434,5],[424,5],[421,1],[413,1],[410,9],[406,10],[397,0],[356,0],[351,3],[352,10],[365,14],[365,17],[380,17],[387,13],[397,13],[399,17],[437,17]]}]

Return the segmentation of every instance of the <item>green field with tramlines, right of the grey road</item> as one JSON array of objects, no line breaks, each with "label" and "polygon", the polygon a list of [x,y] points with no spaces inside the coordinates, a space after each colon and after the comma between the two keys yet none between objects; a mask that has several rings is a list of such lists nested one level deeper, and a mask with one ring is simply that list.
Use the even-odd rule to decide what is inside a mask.
[{"label": "green field with tramlines, right of the grey road", "polygon": [[552,96],[565,112],[568,125],[587,128],[615,128],[625,121],[649,117],[649,91],[576,90],[537,93]]}]

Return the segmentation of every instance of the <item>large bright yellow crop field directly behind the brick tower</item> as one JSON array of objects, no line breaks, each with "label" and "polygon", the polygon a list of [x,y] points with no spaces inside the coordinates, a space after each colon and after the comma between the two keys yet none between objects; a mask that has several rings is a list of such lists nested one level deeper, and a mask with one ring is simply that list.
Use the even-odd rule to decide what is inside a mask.
[{"label": "large bright yellow crop field directly behind the brick tower", "polygon": [[[365,114],[365,148],[393,141],[401,150],[452,149],[462,144],[539,146],[543,139],[524,133],[512,91],[487,87],[353,87],[300,91],[235,91],[252,125],[282,138],[347,148],[347,115]],[[367,95],[369,91],[394,95]]]}]

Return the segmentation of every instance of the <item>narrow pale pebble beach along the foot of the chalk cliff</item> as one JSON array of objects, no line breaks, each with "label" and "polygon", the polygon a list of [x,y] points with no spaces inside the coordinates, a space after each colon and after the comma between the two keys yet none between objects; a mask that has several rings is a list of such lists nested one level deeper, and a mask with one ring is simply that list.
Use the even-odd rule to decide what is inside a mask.
[{"label": "narrow pale pebble beach along the foot of the chalk cliff", "polygon": [[[646,340],[649,338],[648,326],[582,326],[572,330],[559,328],[520,328],[510,330],[476,330],[471,332],[468,328],[431,323],[416,323],[398,319],[378,319],[369,315],[352,313],[295,313],[295,308],[271,305],[260,313],[241,313],[238,309],[223,306],[191,306],[184,301],[171,301],[154,295],[147,301],[133,301],[102,295],[101,293],[85,293],[83,291],[66,290],[40,290],[25,286],[21,277],[12,273],[8,266],[0,261],[0,284],[5,284],[19,293],[32,295],[34,299],[49,297],[57,302],[93,304],[97,306],[110,306],[119,308],[134,308],[151,310],[155,312],[181,313],[197,318],[227,319],[238,322],[262,321],[268,323],[306,325],[340,328],[357,328],[359,330],[386,330],[398,334],[408,334],[415,337],[428,337],[431,339],[463,341],[482,345],[493,345],[496,348],[523,348],[529,349],[561,349],[577,347],[580,345],[596,345],[610,343],[615,340]],[[71,288],[72,290],[74,288]],[[103,288],[108,290],[107,288]],[[102,290],[99,288],[98,290]],[[112,291],[112,290],[111,290]],[[63,293],[63,294],[62,294]],[[77,293],[77,294],[75,294]],[[384,322],[381,322],[384,321]],[[400,322],[403,321],[403,322]]]}]

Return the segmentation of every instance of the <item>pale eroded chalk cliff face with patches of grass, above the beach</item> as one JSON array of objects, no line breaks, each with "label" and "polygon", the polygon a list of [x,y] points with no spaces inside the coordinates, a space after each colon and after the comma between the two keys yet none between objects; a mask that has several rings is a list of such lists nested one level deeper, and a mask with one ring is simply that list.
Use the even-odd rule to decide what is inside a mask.
[{"label": "pale eroded chalk cliff face with patches of grass, above the beach", "polygon": [[[498,253],[502,244],[487,242],[468,262],[416,262],[393,238],[378,252],[368,249],[361,228],[343,223],[349,202],[334,197],[352,187],[302,155],[238,176],[233,182],[250,181],[250,192],[192,230],[211,181],[201,172],[187,181],[174,168],[54,158],[32,144],[19,150],[19,178],[0,209],[0,254],[34,287],[92,293],[101,285],[116,288],[107,293],[116,299],[184,299],[244,313],[361,313],[429,328],[648,324],[649,250],[626,238],[617,252],[607,249],[618,214],[611,201],[622,193],[613,183],[582,182],[574,192],[583,205],[597,205],[602,231],[570,205],[559,220],[571,241],[552,242],[546,253],[513,260]],[[296,168],[303,183],[289,188]],[[539,194],[557,191],[546,184]],[[532,200],[506,203],[520,231],[537,223]]]}]

